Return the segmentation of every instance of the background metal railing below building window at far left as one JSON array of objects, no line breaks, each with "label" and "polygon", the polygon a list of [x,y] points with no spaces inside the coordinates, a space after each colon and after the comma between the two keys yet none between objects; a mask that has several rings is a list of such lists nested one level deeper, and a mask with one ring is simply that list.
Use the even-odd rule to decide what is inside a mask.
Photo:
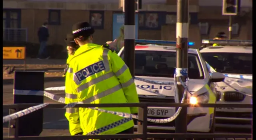
[{"label": "background metal railing below building window at far left", "polygon": [[3,41],[28,41],[28,29],[3,28]]}]

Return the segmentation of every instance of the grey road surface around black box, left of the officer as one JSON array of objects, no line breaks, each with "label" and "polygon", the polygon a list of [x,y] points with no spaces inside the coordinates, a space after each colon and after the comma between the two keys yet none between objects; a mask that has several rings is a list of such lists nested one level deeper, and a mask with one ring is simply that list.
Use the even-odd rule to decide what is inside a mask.
[{"label": "grey road surface around black box, left of the officer", "polygon": [[[64,81],[48,81],[45,82],[44,87],[61,87],[64,86]],[[12,92],[13,85],[3,85],[3,104],[12,104]],[[58,96],[64,97],[64,91],[50,91]],[[45,103],[57,103],[48,98],[44,98]],[[68,121],[64,116],[64,109],[44,109],[44,123],[43,123],[43,132],[42,136],[66,136],[70,135],[68,132]],[[7,115],[8,110],[3,110],[3,115]],[[54,114],[54,115],[53,115]],[[8,123],[3,124],[3,135],[8,136]],[[239,133],[239,132],[238,132]],[[224,139],[216,139],[224,140]],[[232,140],[232,139],[229,139]],[[245,139],[236,139],[236,140],[245,140]]]}]

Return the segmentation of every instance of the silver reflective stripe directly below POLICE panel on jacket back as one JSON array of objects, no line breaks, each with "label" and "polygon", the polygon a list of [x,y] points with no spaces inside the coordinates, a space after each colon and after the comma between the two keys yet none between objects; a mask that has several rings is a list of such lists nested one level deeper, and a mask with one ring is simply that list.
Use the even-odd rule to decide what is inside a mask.
[{"label": "silver reflective stripe directly below POLICE panel on jacket back", "polygon": [[87,83],[84,83],[83,85],[80,85],[78,88],[77,88],[77,92],[80,92],[80,91],[83,91],[84,89],[87,89],[88,87],[90,87],[91,85],[95,85],[97,83],[99,83],[100,81],[103,81],[105,79],[108,79],[112,76],[115,76],[114,73],[110,72],[110,73],[107,73],[105,75],[102,75],[100,77],[97,77],[95,79],[92,79],[91,81],[87,82]]}]

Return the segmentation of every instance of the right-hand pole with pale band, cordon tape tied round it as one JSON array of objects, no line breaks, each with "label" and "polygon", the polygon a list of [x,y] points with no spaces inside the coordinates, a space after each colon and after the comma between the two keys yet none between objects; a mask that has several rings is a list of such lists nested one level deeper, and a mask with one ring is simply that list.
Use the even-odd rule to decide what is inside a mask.
[{"label": "right-hand pole with pale band, cordon tape tied round it", "polygon": [[[188,68],[188,0],[177,0],[177,24],[176,24],[176,68],[182,70]],[[179,75],[176,75],[179,76]],[[181,80],[186,81],[187,75],[182,75]],[[184,87],[179,77],[176,77],[179,102],[181,102]],[[186,100],[185,100],[186,101]],[[176,108],[177,110],[178,108]],[[182,107],[175,120],[175,133],[187,132],[187,108]],[[179,140],[179,139],[176,139]],[[182,139],[181,139],[182,140]]]}]

